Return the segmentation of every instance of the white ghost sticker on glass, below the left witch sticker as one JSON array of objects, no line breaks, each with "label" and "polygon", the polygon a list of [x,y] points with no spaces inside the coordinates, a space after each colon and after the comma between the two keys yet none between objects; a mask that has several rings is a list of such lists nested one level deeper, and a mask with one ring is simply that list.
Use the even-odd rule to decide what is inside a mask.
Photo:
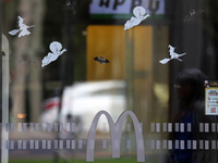
[{"label": "white ghost sticker on glass, below the left witch sticker", "polygon": [[49,52],[44,60],[41,61],[41,66],[46,66],[48,65],[50,62],[53,62],[58,59],[58,57],[60,57],[63,52],[66,51],[66,49],[62,49],[62,45],[58,41],[53,41],[50,43],[49,49],[51,52]]}]

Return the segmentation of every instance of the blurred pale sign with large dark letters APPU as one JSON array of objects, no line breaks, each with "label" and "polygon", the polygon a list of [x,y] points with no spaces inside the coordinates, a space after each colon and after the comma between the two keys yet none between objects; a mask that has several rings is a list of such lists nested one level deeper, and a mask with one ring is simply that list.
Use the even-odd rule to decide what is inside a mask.
[{"label": "blurred pale sign with large dark letters APPU", "polygon": [[130,18],[135,7],[143,7],[154,17],[164,17],[165,0],[93,0],[90,18]]}]

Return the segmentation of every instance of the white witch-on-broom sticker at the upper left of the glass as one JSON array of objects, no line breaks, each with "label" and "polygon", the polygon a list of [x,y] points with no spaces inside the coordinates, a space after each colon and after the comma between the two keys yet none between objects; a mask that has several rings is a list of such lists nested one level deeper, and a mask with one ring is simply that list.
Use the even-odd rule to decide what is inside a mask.
[{"label": "white witch-on-broom sticker at the upper left of the glass", "polygon": [[25,36],[25,35],[29,35],[31,33],[27,30],[27,28],[34,27],[35,25],[27,26],[27,25],[24,24],[24,18],[22,18],[21,16],[19,16],[17,18],[19,18],[19,27],[20,27],[20,29],[13,29],[13,30],[9,32],[9,34],[14,36],[19,32],[21,32],[19,34],[19,37]]}]

